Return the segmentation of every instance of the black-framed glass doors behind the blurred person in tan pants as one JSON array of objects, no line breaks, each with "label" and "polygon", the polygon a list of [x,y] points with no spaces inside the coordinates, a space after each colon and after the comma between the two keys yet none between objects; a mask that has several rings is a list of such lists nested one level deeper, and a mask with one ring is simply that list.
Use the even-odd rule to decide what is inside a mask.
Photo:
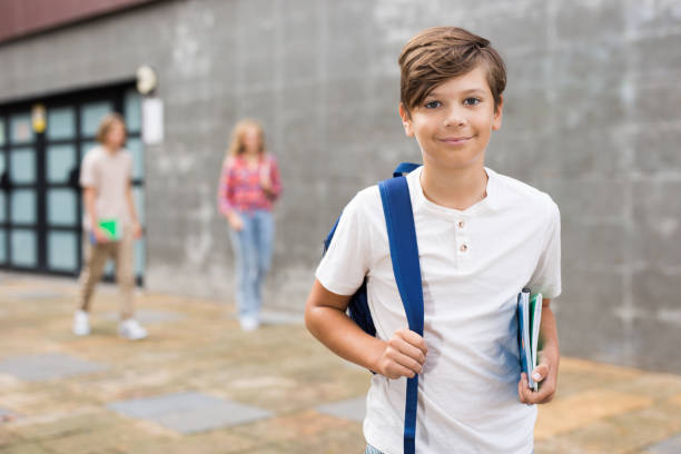
[{"label": "black-framed glass doors behind the blurred person in tan pants", "polygon": [[[36,132],[31,106],[46,106],[47,128]],[[145,223],[145,159],[140,96],[129,87],[67,93],[18,106],[0,106],[0,267],[76,276],[82,267],[82,158],[107,114],[125,116],[126,148],[134,159],[134,198]],[[145,243],[135,246],[141,283]],[[114,278],[109,263],[106,278]]]}]

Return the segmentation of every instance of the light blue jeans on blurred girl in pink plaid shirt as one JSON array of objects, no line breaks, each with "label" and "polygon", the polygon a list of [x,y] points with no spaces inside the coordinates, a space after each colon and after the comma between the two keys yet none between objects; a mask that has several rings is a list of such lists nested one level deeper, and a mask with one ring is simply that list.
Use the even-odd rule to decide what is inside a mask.
[{"label": "light blue jeans on blurred girl in pink plaid shirt", "polygon": [[236,268],[236,300],[239,318],[258,318],[260,288],[272,263],[274,218],[270,211],[239,213],[240,231],[230,230]]}]

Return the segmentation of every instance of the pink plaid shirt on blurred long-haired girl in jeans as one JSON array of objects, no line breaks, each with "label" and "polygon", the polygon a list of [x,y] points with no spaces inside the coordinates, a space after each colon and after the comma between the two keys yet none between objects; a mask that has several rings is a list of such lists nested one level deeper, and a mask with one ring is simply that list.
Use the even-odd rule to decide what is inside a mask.
[{"label": "pink plaid shirt on blurred long-haired girl in jeans", "polygon": [[[269,176],[272,190],[266,193],[260,186],[260,179]],[[277,160],[272,155],[264,155],[256,168],[249,168],[240,156],[229,157],[223,166],[218,188],[218,208],[220,213],[254,211],[264,209],[272,211],[274,201],[282,194],[282,180]]]}]

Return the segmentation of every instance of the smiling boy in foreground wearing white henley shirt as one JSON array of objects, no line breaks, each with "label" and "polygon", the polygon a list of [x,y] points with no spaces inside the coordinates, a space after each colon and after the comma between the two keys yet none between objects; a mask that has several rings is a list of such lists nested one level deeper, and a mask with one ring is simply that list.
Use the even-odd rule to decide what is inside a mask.
[{"label": "smiling boy in foreground wearing white henley shirt", "polygon": [[[424,296],[424,336],[406,328],[381,196],[364,189],[343,211],[316,272],[308,329],[333,352],[374,371],[367,453],[403,452],[406,379],[420,374],[417,453],[531,453],[536,408],[552,398],[559,367],[560,214],[539,190],[484,167],[501,127],[506,76],[490,42],[440,27],[399,57],[405,132],[423,167],[407,176]],[[346,315],[367,277],[376,337]],[[542,293],[539,392],[521,376],[516,296]],[[519,381],[520,377],[520,381]]]}]

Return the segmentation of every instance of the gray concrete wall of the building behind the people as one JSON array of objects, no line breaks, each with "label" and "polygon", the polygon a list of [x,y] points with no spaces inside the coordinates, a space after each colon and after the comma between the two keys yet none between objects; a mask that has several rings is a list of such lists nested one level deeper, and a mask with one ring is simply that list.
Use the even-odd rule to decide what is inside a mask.
[{"label": "gray concrete wall of the building behind the people", "polygon": [[147,283],[225,300],[219,166],[231,125],[259,118],[285,185],[268,304],[302,310],[343,206],[420,157],[396,59],[435,24],[506,59],[488,165],[561,207],[563,353],[681,372],[679,0],[167,1],[0,46],[0,101],[155,66],[166,140],[147,148]]}]

